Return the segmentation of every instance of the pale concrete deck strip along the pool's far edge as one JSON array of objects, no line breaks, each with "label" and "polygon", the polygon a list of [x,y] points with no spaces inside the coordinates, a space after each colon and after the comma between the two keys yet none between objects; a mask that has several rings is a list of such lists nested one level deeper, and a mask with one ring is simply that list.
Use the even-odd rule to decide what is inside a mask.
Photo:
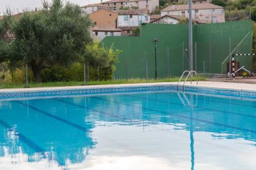
[{"label": "pale concrete deck strip along the pool's far edge", "polygon": [[[183,86],[184,82],[180,82],[180,86]],[[177,82],[162,82],[162,83],[137,83],[137,84],[106,84],[106,85],[93,85],[93,86],[65,86],[65,87],[37,87],[37,88],[9,88],[0,89],[1,92],[32,92],[32,91],[53,91],[53,90],[76,90],[76,89],[88,89],[88,88],[112,88],[112,87],[137,87],[137,86],[163,86],[163,85],[177,85]],[[229,83],[229,82],[210,82],[200,81],[186,82],[185,86],[188,87],[204,87],[204,88],[216,88],[220,90],[236,90],[236,91],[251,91],[256,92],[256,84],[247,83]]]}]

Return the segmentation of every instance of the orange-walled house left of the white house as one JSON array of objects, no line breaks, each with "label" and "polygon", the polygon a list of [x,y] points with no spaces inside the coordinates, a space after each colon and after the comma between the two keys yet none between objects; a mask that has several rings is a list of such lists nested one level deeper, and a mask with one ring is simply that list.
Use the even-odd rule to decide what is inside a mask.
[{"label": "orange-walled house left of the white house", "polygon": [[89,15],[90,19],[96,26],[118,27],[117,12],[101,9]]}]

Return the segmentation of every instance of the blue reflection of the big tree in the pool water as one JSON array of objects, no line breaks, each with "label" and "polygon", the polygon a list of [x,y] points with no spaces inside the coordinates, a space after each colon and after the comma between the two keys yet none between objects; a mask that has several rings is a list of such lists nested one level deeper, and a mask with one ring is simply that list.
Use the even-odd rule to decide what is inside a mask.
[{"label": "blue reflection of the big tree in the pool water", "polygon": [[[1,156],[26,154],[28,162],[38,162],[42,158],[46,158],[50,164],[57,162],[59,165],[65,166],[67,163],[83,162],[86,155],[96,145],[92,138],[92,132],[90,132],[94,125],[89,121],[86,122],[86,125],[82,125],[88,131],[82,131],[43,116],[43,114],[30,110],[27,112],[26,107],[16,109],[15,107],[9,108],[8,115],[1,117],[3,120],[8,120],[8,124],[14,127],[6,129],[0,125]],[[17,112],[17,109],[19,112]],[[85,121],[83,116],[83,114],[80,114],[81,122]],[[46,153],[36,153],[28,146],[30,143],[27,145],[18,138],[18,135],[15,135],[18,134],[18,131],[24,133],[32,142],[43,148]]]}]

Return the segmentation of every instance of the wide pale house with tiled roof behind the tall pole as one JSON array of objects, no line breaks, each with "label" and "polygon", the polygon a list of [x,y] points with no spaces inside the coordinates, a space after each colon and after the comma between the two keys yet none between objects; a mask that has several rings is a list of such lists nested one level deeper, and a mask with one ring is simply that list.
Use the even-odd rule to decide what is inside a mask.
[{"label": "wide pale house with tiled roof behind the tall pole", "polygon": [[[178,15],[188,18],[188,4],[170,5],[161,10],[161,16]],[[212,3],[192,4],[193,20],[199,23],[222,23],[225,22],[224,7]]]}]

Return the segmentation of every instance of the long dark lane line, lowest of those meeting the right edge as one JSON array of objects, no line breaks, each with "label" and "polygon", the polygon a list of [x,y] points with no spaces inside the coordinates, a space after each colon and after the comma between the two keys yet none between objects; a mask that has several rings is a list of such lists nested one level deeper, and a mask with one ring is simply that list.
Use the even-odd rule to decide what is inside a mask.
[{"label": "long dark lane line, lowest of those meeting the right edge", "polygon": [[[91,98],[98,99],[98,100],[102,100],[102,101],[108,101],[109,103],[123,104],[123,105],[127,105],[127,106],[130,106],[130,107],[133,107],[133,108],[136,107],[135,105],[125,104],[125,103],[121,103],[121,102],[118,102],[118,101],[112,101],[112,100],[107,100],[107,99],[101,99],[100,97],[91,96]],[[138,107],[137,107],[137,108],[138,108]],[[139,108],[141,108],[141,107],[139,107]],[[145,109],[145,110],[148,110],[148,111],[152,111],[152,112],[158,112],[158,113],[163,113],[163,114],[172,114],[172,113],[170,113],[170,112],[157,111],[157,110],[155,110],[155,109],[149,109],[149,108],[145,108],[145,107],[142,107],[142,108]],[[218,125],[218,126],[224,126],[224,127],[226,127],[226,128],[233,128],[233,129],[242,130],[242,131],[247,131],[247,132],[255,133],[255,134],[256,134],[256,131],[255,131],[255,130],[249,130],[249,129],[239,128],[239,127],[232,126],[232,125],[224,125],[224,124],[220,124],[220,123],[217,123],[217,122],[212,122],[212,121],[203,120],[203,119],[200,119],[200,118],[193,118],[193,117],[183,116],[183,115],[179,115],[179,114],[172,114],[172,116],[187,118],[187,119],[189,119],[189,120],[192,119],[192,120],[196,120],[196,121],[200,121],[200,122],[204,122],[204,123],[208,123],[208,124],[213,124],[213,125]]]}]

